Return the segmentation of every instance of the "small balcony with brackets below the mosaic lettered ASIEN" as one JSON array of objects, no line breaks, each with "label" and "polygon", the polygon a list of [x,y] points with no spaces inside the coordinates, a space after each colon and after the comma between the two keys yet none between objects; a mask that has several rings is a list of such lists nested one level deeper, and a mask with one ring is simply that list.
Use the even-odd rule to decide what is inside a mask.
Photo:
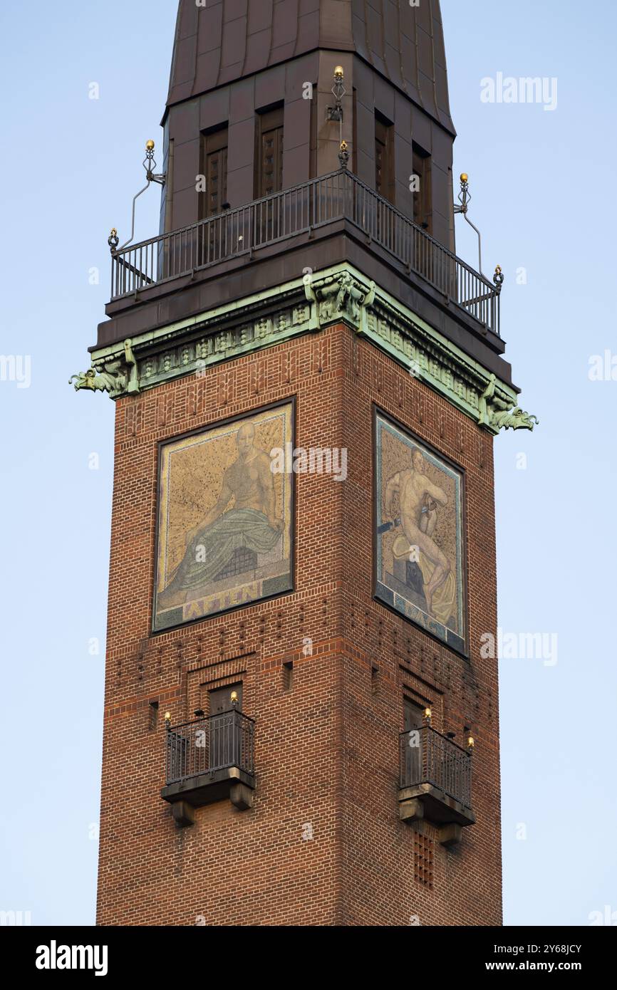
[{"label": "small balcony with brackets below the mosaic lettered ASIEN", "polygon": [[160,796],[178,825],[192,825],[195,808],[225,798],[240,811],[253,807],[254,735],[253,719],[236,709],[167,725]]}]

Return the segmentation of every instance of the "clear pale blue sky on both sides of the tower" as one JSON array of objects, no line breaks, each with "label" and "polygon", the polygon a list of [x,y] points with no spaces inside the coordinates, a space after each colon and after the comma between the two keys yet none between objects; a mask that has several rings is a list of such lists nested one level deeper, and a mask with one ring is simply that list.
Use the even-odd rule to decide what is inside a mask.
[{"label": "clear pale blue sky on both sides of the tower", "polygon": [[[114,406],[67,379],[88,366],[104,316],[109,229],[128,237],[144,143],[160,142],[175,8],[59,0],[0,13],[0,353],[32,361],[29,388],[0,381],[0,909],[30,910],[34,924],[94,921]],[[505,921],[586,925],[617,911],[617,381],[588,377],[591,355],[617,355],[617,8],[442,9],[456,172],[470,175],[484,268],[504,268],[502,334],[542,421],[495,442],[500,625],[559,637],[555,665],[500,662]],[[557,109],[482,103],[480,80],[499,71],[557,77]],[[153,190],[138,237],[155,233],[157,211]]]}]

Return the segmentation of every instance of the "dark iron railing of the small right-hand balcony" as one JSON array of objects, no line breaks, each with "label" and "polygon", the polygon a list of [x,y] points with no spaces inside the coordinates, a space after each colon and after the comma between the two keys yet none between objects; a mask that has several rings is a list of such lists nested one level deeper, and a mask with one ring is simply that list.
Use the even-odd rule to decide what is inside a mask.
[{"label": "dark iron railing of the small right-hand balcony", "polygon": [[433,784],[471,807],[471,755],[446,736],[422,726],[401,733],[401,787]]}]

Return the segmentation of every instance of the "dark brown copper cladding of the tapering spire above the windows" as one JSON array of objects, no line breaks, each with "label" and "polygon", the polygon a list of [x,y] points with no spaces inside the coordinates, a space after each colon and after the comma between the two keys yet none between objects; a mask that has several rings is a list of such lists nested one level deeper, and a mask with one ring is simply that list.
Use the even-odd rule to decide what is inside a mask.
[{"label": "dark brown copper cladding of the tapering spire above the windows", "polygon": [[355,51],[455,135],[439,0],[180,0],[167,107],[314,49]]}]

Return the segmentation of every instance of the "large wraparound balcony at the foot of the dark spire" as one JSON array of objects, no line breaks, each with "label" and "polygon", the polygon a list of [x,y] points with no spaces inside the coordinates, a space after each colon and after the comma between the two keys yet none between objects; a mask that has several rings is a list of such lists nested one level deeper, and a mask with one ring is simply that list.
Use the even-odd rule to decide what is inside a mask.
[{"label": "large wraparound balcony at the foot of the dark spire", "polygon": [[[494,284],[488,281],[347,168],[150,241],[119,249],[117,238],[110,239],[107,313],[113,317],[133,302],[154,300],[208,274],[218,278],[247,262],[340,233],[377,249],[399,278],[458,312],[476,333],[499,338],[502,276],[496,274]],[[319,267],[312,256],[303,265],[307,261]]]}]

